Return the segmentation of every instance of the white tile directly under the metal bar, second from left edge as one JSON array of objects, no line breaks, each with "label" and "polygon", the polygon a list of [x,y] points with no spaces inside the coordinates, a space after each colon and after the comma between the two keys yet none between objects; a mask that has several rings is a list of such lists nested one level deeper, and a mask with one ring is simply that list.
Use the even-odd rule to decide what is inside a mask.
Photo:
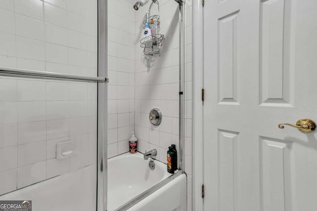
[{"label": "white tile directly under the metal bar, second from left edge", "polygon": [[46,100],[44,81],[17,81],[19,101],[40,101]]}]

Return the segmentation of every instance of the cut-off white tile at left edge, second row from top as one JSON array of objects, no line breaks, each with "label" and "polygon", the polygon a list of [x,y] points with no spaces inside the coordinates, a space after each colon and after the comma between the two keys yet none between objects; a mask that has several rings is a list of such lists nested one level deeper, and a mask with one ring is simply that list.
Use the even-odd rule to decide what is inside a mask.
[{"label": "cut-off white tile at left edge, second row from top", "polygon": [[[1,6],[1,2],[3,1],[4,0],[0,1],[0,6]],[[15,33],[13,12],[10,12],[5,9],[0,9],[0,31],[10,33],[10,34]]]}]

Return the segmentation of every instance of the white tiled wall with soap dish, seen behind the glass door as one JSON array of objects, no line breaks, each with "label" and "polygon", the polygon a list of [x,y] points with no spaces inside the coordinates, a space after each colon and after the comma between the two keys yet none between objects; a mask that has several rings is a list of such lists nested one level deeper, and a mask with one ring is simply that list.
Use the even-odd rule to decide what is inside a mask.
[{"label": "white tiled wall with soap dish, seen behind the glass door", "polygon": [[[97,0],[0,0],[0,66],[97,76],[97,14]],[[96,164],[96,131],[97,84],[1,77],[0,195]]]}]

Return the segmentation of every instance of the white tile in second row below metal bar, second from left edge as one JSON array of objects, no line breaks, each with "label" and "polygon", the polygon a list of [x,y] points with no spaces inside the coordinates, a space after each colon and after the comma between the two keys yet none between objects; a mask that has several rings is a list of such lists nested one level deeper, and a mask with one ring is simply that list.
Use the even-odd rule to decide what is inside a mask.
[{"label": "white tile in second row below metal bar, second from left edge", "polygon": [[18,123],[46,120],[45,101],[18,102]]}]

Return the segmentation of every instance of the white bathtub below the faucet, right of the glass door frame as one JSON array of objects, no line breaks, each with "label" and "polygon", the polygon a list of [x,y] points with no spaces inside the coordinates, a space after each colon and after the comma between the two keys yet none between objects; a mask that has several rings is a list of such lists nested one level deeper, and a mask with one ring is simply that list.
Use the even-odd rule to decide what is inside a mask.
[{"label": "white bathtub below the faucet, right of the glass door frame", "polygon": [[107,185],[107,211],[186,211],[186,175],[141,153],[108,159]]}]

